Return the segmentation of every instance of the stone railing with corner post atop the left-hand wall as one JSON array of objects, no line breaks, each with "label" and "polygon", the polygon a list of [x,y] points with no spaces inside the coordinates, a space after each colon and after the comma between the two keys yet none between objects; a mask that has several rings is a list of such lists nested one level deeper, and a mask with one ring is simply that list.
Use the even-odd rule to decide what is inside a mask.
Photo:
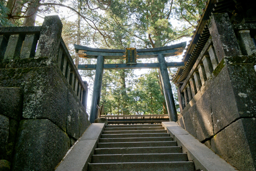
[{"label": "stone railing with corner post atop the left-hand wall", "polygon": [[86,108],[88,84],[81,79],[61,32],[58,16],[46,16],[42,26],[0,27],[0,60],[51,58]]}]

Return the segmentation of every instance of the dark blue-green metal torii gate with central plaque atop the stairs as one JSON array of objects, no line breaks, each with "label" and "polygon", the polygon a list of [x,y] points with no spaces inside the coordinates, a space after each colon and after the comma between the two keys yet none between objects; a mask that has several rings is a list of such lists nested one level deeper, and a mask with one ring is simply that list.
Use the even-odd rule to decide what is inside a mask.
[{"label": "dark blue-green metal torii gate with central plaque atop the stairs", "polygon": [[[93,70],[95,69],[95,80],[93,84],[92,104],[90,110],[90,123],[98,118],[97,105],[101,98],[101,85],[104,69],[142,69],[142,68],[160,68],[160,76],[163,83],[164,97],[166,100],[167,111],[170,121],[177,121],[178,115],[175,107],[175,102],[172,94],[172,87],[168,75],[167,67],[184,67],[183,62],[166,63],[164,57],[177,56],[183,53],[186,47],[186,42],[175,45],[151,48],[137,49],[126,48],[125,50],[109,50],[90,48],[74,44],[75,51],[81,58],[95,58],[95,64],[80,64],[78,70]],[[138,63],[136,59],[141,58],[156,58],[158,63]],[[126,59],[126,64],[104,64],[104,59]]]}]

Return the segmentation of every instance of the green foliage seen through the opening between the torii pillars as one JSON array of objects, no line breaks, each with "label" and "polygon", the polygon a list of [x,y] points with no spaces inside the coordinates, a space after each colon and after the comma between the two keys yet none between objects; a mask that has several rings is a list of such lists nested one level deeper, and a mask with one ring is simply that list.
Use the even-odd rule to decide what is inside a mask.
[{"label": "green foliage seen through the opening between the torii pillars", "polygon": [[[111,82],[113,79],[118,79],[115,75],[117,71],[110,72],[112,74],[104,75],[104,82],[108,86],[102,89],[102,101],[106,100],[105,114],[163,114],[164,96],[161,95],[158,72],[155,69],[130,80],[131,82],[128,81],[125,89],[121,84]],[[129,71],[125,70],[125,72],[129,74]]]}]

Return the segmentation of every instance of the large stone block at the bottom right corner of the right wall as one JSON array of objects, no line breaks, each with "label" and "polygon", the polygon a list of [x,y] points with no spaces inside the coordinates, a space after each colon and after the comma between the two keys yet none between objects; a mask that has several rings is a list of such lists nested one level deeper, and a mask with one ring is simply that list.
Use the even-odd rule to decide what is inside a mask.
[{"label": "large stone block at the bottom right corner of the right wall", "polygon": [[255,171],[255,126],[255,118],[235,121],[211,139],[212,150],[240,171]]}]

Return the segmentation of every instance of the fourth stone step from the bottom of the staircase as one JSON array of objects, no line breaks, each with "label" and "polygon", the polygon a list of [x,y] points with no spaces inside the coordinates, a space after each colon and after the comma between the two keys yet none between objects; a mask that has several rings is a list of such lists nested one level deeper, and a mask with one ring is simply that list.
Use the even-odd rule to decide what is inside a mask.
[{"label": "fourth stone step from the bottom of the staircase", "polygon": [[172,147],[176,141],[98,143],[97,148]]}]

